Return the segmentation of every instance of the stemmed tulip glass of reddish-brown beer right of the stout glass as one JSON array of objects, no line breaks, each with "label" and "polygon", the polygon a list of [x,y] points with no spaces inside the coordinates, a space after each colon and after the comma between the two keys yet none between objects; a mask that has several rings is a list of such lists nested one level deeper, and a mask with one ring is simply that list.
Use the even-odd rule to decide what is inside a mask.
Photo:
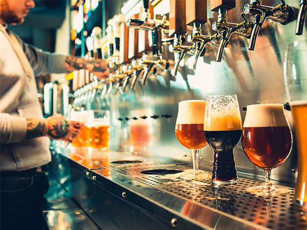
[{"label": "stemmed tulip glass of reddish-brown beer right of the stout glass", "polygon": [[258,196],[288,193],[286,187],[272,184],[271,170],[287,159],[292,148],[292,133],[283,104],[248,105],[243,124],[242,147],[247,157],[265,171],[265,182],[247,188]]}]

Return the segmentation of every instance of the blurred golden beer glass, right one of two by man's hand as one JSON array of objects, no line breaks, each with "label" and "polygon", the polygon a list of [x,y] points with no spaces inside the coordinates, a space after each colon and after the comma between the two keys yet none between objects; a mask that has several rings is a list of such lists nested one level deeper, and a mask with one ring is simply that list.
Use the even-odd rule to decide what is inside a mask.
[{"label": "blurred golden beer glass, right one of two by man's hand", "polygon": [[107,150],[109,146],[110,112],[109,110],[89,110],[89,147]]}]

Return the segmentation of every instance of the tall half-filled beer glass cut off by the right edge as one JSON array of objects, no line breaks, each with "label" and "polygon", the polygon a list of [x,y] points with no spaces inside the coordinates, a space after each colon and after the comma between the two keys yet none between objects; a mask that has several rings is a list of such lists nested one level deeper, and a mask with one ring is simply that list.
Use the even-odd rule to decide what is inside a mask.
[{"label": "tall half-filled beer glass cut off by the right edge", "polygon": [[307,39],[289,44],[284,62],[284,82],[295,123],[298,150],[296,204],[307,208]]}]

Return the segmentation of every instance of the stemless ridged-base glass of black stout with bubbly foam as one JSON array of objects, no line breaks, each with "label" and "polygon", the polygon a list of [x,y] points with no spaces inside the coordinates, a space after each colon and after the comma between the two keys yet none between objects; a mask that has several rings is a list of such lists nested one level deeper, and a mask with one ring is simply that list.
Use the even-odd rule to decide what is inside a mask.
[{"label": "stemless ridged-base glass of black stout with bubbly foam", "polygon": [[212,182],[228,185],[238,180],[233,149],[242,134],[242,119],[236,95],[207,97],[204,132],[214,150]]}]

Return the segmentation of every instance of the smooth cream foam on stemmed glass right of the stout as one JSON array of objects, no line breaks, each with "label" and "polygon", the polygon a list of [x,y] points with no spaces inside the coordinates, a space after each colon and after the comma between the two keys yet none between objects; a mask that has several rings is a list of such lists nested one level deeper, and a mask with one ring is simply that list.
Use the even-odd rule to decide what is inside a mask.
[{"label": "smooth cream foam on stemmed glass right of the stout", "polygon": [[243,127],[288,126],[283,104],[248,105]]}]

